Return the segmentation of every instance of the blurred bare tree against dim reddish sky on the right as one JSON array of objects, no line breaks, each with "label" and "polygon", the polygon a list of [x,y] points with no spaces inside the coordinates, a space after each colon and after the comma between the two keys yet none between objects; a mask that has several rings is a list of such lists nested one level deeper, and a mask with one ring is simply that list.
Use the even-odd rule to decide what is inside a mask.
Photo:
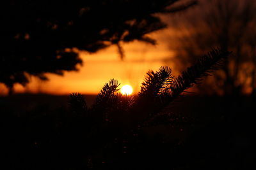
[{"label": "blurred bare tree against dim reddish sky on the right", "polygon": [[215,89],[228,95],[243,94],[243,90],[248,89],[255,91],[255,1],[198,2],[188,13],[172,17],[172,27],[180,33],[170,48],[177,53],[181,67],[196,60],[211,46],[221,46],[233,53],[223,69],[214,73],[214,78],[207,78],[205,90]]}]

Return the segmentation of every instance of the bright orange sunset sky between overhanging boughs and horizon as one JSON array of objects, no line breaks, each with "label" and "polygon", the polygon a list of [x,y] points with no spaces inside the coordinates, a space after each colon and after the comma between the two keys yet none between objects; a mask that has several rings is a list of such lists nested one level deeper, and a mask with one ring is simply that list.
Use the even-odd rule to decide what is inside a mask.
[{"label": "bright orange sunset sky between overhanging boughs and horizon", "polygon": [[[157,45],[134,41],[124,44],[125,59],[118,56],[116,46],[111,46],[97,53],[81,52],[83,66],[79,72],[66,72],[64,76],[49,75],[49,81],[40,81],[31,78],[31,83],[26,88],[15,85],[15,92],[43,92],[49,94],[69,94],[81,92],[83,94],[97,94],[111,78],[120,81],[121,85],[130,84],[134,92],[140,90],[148,69],[156,71],[161,66],[171,66],[164,60],[169,60],[173,53],[168,50],[168,37],[170,29],[150,34],[157,39]],[[7,90],[0,86],[2,92]]]}]

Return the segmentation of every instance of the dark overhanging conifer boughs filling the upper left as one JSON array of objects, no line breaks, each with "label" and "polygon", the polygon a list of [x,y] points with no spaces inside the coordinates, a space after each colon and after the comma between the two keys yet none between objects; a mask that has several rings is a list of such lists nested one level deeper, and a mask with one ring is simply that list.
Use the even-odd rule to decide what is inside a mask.
[{"label": "dark overhanging conifer boughs filling the upper left", "polygon": [[4,1],[1,4],[0,82],[12,93],[13,84],[26,85],[29,76],[47,80],[45,73],[77,71],[78,50],[97,52],[121,42],[156,44],[148,33],[166,25],[156,13],[172,13],[195,4],[178,0],[135,1]]}]

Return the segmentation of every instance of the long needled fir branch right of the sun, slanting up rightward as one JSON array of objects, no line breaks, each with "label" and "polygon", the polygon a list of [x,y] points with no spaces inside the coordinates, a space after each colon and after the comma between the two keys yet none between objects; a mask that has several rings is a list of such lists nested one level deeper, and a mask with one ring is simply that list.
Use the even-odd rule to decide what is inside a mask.
[{"label": "long needled fir branch right of the sun, slanting up rightward", "polygon": [[175,79],[169,67],[161,67],[156,73],[149,71],[142,83],[136,103],[131,109],[132,114],[136,115],[134,115],[134,119],[140,115],[136,122],[148,121],[159,114],[182,92],[198,83],[201,78],[209,75],[214,69],[219,69],[221,62],[229,54],[230,52],[214,49],[198,59],[195,65],[188,67],[187,71],[182,72]]}]

